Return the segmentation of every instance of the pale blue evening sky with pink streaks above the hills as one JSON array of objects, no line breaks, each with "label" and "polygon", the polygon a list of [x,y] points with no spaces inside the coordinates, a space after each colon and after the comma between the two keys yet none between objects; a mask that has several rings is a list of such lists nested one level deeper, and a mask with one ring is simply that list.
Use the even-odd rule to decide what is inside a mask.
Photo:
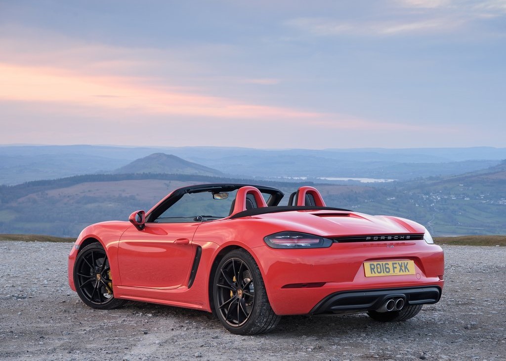
[{"label": "pale blue evening sky with pink streaks above the hills", "polygon": [[506,0],[0,0],[0,144],[506,147]]}]

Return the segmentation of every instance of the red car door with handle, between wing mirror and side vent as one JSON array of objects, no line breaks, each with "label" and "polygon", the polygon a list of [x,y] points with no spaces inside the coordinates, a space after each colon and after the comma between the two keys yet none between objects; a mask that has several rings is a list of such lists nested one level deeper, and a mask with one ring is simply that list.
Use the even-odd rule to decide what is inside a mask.
[{"label": "red car door with handle, between wing mirror and side vent", "polygon": [[146,223],[130,227],[118,244],[122,286],[173,289],[188,279],[195,248],[191,241],[200,223]]}]

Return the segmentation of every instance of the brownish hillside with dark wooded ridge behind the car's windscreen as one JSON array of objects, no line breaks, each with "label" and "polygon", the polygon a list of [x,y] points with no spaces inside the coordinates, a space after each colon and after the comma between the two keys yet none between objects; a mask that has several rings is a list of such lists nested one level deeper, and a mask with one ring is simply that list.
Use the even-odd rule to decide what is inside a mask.
[{"label": "brownish hillside with dark wooded ridge behind the car's windscreen", "polygon": [[[86,225],[128,219],[138,209],[150,209],[170,191],[201,183],[263,184],[285,194],[303,184],[231,179],[183,174],[92,174],[0,186],[0,233],[76,237]],[[311,183],[305,182],[304,185]],[[362,186],[319,187],[324,197],[341,199],[369,190]],[[285,197],[285,202],[288,197]]]}]

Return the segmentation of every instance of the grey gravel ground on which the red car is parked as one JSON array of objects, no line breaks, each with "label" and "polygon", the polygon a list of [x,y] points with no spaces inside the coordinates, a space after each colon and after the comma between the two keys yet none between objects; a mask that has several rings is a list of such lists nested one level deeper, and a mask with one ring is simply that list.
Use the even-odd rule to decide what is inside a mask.
[{"label": "grey gravel ground on which the red car is parked", "polygon": [[259,336],[203,311],[93,310],[68,287],[71,247],[0,241],[1,360],[506,360],[506,247],[445,246],[443,297],[407,322],[284,317]]}]

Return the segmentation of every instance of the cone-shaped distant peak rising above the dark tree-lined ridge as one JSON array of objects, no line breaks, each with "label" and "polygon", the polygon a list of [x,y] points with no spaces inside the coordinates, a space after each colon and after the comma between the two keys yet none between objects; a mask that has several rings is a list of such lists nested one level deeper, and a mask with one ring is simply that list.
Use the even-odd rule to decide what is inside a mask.
[{"label": "cone-shaped distant peak rising above the dark tree-lined ridge", "polygon": [[147,157],[134,160],[113,171],[115,174],[130,173],[168,173],[193,175],[223,175],[219,170],[192,163],[173,154],[153,153]]}]

